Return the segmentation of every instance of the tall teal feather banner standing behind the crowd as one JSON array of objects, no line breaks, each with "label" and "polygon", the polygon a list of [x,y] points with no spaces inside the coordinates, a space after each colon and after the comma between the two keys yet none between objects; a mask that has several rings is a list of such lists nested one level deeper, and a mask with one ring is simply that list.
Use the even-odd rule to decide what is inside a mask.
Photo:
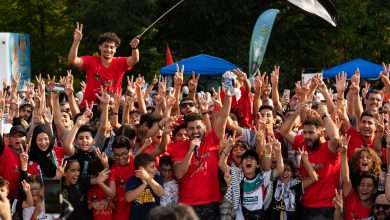
[{"label": "tall teal feather banner standing behind the crowd", "polygon": [[253,76],[260,68],[263,62],[265,50],[269,37],[271,35],[272,26],[276,15],[279,13],[278,9],[268,9],[263,12],[256,21],[253,28],[251,46],[249,49],[249,75]]}]

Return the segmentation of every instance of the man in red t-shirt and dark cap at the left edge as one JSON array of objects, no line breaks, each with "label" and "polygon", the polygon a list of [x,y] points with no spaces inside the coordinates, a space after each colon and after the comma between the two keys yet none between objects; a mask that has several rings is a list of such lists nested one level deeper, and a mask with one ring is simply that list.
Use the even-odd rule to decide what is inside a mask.
[{"label": "man in red t-shirt and dark cap at the left edge", "polygon": [[[3,142],[3,137],[0,136],[0,176],[8,180],[9,199],[15,199],[19,193],[19,184],[21,181],[21,163],[20,156],[23,154],[23,149],[26,146],[27,132],[22,125],[16,125],[11,128],[9,133],[10,145],[6,146]],[[23,168],[27,175],[27,166]]]}]

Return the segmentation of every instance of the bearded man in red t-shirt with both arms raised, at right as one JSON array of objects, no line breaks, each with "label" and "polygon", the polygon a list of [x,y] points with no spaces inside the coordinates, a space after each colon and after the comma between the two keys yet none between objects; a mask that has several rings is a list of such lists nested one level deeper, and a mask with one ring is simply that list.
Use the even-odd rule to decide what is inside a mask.
[{"label": "bearded man in red t-shirt with both arms raised, at right", "polygon": [[[325,105],[319,105],[318,118],[307,118],[303,123],[303,134],[299,135],[292,131],[293,123],[299,116],[301,108],[291,115],[280,129],[282,136],[297,150],[306,150],[309,161],[318,174],[318,181],[308,188],[302,197],[302,219],[333,219],[335,195],[334,189],[340,182],[340,154],[338,152],[339,130],[329,117]],[[329,140],[323,136],[326,129]],[[303,167],[300,174],[307,176]]]}]

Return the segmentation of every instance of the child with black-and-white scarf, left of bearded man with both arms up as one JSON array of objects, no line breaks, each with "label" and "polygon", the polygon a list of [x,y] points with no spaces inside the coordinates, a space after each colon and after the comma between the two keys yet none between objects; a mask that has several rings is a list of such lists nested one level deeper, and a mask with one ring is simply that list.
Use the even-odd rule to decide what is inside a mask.
[{"label": "child with black-and-white scarf, left of bearded man with both arms up", "polygon": [[302,181],[299,178],[294,178],[294,164],[291,161],[284,163],[283,173],[274,182],[271,219],[300,219],[298,209],[301,196],[307,187],[318,180],[317,174],[309,162],[307,152],[299,149],[299,153],[301,154],[303,166],[308,172],[308,178]]}]

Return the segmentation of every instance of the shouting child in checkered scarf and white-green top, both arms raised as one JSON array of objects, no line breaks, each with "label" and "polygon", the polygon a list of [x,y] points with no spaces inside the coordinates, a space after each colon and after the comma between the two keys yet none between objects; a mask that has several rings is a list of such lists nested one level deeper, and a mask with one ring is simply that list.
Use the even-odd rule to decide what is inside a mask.
[{"label": "shouting child in checkered scarf and white-green top, both arms raised", "polygon": [[[268,141],[277,158],[276,169],[259,171],[260,159],[254,150],[247,150],[242,155],[242,170],[225,164],[225,168],[230,169],[231,174],[225,199],[233,204],[233,211],[238,220],[264,218],[264,210],[271,202],[271,196],[266,195],[266,191],[269,192],[266,188],[269,185],[272,187],[272,181],[284,170],[280,142],[274,137],[269,137]],[[224,149],[224,155],[230,153],[229,148]]]}]

